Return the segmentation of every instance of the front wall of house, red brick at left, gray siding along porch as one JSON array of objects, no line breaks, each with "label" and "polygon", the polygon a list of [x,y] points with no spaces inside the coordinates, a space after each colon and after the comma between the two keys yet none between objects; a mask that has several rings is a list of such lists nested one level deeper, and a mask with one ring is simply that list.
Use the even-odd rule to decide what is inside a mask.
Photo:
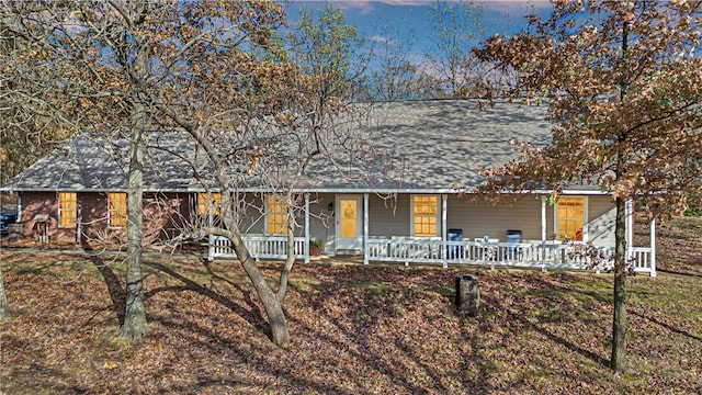
[{"label": "front wall of house, red brick at left, gray siding along porch", "polygon": [[[356,194],[362,198],[362,194]],[[57,227],[56,192],[22,192],[22,223],[25,237],[36,235],[34,217],[49,215],[49,236],[52,240],[76,241],[76,228]],[[125,241],[125,229],[107,228],[106,193],[79,192],[81,202],[83,240],[111,239]],[[310,194],[310,238],[325,240],[325,252],[335,251],[336,240],[336,194]],[[441,196],[440,196],[441,202]],[[541,196],[528,196],[522,200],[492,206],[483,200],[448,196],[446,228],[463,230],[464,240],[483,238],[506,241],[508,229],[519,229],[525,241],[541,240]],[[263,234],[265,216],[262,195],[247,198],[248,210],[241,217],[245,234]],[[329,210],[331,203],[331,211]],[[411,230],[410,194],[398,194],[389,199],[369,195],[369,235],[371,237],[409,236]],[[145,194],[144,196],[145,241],[172,237],[180,233],[188,222],[193,219],[196,210],[196,194]],[[546,238],[553,240],[555,207],[546,206]],[[361,210],[360,215],[363,215]],[[614,246],[615,208],[611,196],[593,195],[588,198],[588,237],[598,246]],[[298,214],[301,225],[296,236],[304,236],[304,213]],[[439,211],[439,228],[441,210]],[[362,232],[362,229],[360,230]]]}]

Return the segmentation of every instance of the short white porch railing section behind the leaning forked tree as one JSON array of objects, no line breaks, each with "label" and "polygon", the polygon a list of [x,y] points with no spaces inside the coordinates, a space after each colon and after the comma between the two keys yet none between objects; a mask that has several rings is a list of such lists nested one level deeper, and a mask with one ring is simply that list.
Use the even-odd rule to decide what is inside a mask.
[{"label": "short white porch railing section behind the leaning forked tree", "polygon": [[[256,260],[287,258],[287,236],[244,235],[244,245]],[[309,261],[309,242],[305,237],[295,237],[295,259]],[[207,259],[236,258],[231,242],[226,237],[210,236]]]}]

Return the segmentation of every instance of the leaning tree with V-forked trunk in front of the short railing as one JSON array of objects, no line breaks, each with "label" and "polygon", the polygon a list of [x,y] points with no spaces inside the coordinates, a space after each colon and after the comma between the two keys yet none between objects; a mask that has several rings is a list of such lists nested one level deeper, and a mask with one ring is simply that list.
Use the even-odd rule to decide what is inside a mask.
[{"label": "leaning tree with V-forked trunk in front of the short railing", "polygon": [[[297,35],[295,35],[297,34]],[[326,37],[326,40],[321,40]],[[303,206],[301,190],[314,188],[314,180],[306,177],[310,165],[335,165],[327,156],[330,145],[348,139],[343,131],[335,127],[341,113],[350,109],[354,93],[348,53],[355,40],[355,31],[343,22],[333,10],[315,22],[303,21],[299,31],[290,37],[288,53],[275,52],[273,56],[290,58],[267,63],[258,53],[249,53],[247,63],[204,65],[205,74],[251,75],[246,84],[236,87],[245,92],[223,111],[202,112],[201,105],[172,108],[157,103],[166,119],[186,131],[202,150],[202,161],[189,160],[200,182],[210,193],[222,193],[218,222],[205,225],[190,222],[190,233],[183,236],[224,236],[251,279],[269,317],[273,341],[285,347],[290,334],[282,303],[287,290],[288,274],[295,261],[294,234],[299,229],[296,218]],[[262,55],[270,58],[271,53]],[[212,67],[212,69],[210,69]],[[246,70],[247,67],[252,70]],[[253,69],[259,71],[253,71]],[[215,77],[216,78],[216,77]],[[219,92],[200,97],[206,109],[218,108]],[[193,122],[199,114],[207,114],[201,122]],[[210,169],[210,172],[207,172]],[[285,207],[284,229],[271,233],[287,235],[287,259],[281,270],[278,291],[267,283],[242,240],[242,218],[247,212],[264,212],[247,200],[247,190],[259,189],[268,198],[276,199]],[[265,205],[264,200],[261,204]],[[181,237],[182,238],[182,237]]]}]

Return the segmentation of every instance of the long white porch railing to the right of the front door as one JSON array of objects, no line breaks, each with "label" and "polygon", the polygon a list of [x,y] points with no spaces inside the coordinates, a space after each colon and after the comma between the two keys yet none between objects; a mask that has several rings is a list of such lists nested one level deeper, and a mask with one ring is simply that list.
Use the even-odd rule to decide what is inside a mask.
[{"label": "long white porch railing to the right of the front door", "polygon": [[[611,255],[612,247],[599,250]],[[562,244],[530,242],[478,242],[478,241],[443,241],[432,239],[369,238],[365,261],[412,263],[449,263],[485,264],[495,269],[497,266],[547,269],[592,269],[609,270],[613,262],[591,268],[590,258],[580,257],[575,248]],[[655,275],[655,267],[650,260],[650,248],[635,247],[629,250],[633,258],[634,270]]]}]

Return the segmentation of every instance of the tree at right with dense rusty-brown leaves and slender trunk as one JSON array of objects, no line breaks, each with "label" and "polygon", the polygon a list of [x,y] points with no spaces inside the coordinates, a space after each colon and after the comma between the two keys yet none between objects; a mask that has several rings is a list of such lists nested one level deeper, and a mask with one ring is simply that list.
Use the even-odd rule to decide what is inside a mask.
[{"label": "tree at right with dense rusty-brown leaves and slender trunk", "polygon": [[[702,180],[702,3],[556,1],[533,33],[489,38],[476,55],[516,71],[514,97],[544,101],[546,147],[490,169],[484,192],[588,182],[616,205],[611,368],[626,371],[625,202],[680,213]],[[500,87],[503,89],[505,87]]]}]

